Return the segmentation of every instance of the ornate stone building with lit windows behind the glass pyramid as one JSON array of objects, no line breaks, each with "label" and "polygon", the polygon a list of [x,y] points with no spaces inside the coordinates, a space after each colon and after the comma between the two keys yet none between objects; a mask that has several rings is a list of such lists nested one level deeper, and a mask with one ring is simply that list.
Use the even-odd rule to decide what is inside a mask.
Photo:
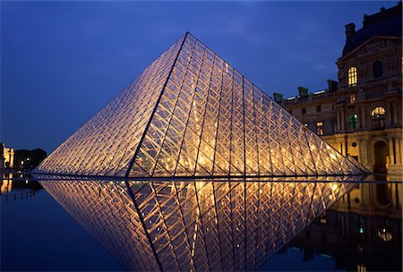
[{"label": "ornate stone building with lit windows behind the glass pyramid", "polygon": [[401,2],[364,15],[363,28],[346,25],[346,45],[337,65],[339,82],[294,98],[274,98],[343,155],[374,173],[402,172]]}]

